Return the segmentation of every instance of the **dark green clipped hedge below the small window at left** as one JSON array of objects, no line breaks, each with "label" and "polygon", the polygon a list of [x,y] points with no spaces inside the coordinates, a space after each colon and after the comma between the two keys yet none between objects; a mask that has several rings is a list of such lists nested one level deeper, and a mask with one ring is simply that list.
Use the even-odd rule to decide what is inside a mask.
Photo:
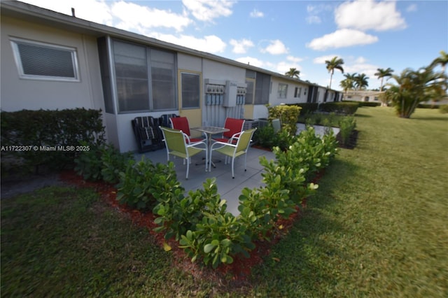
[{"label": "dark green clipped hedge below the small window at left", "polygon": [[[85,108],[1,112],[2,169],[61,169],[79,152],[104,143],[102,112]],[[85,142],[87,146],[81,146]]]}]

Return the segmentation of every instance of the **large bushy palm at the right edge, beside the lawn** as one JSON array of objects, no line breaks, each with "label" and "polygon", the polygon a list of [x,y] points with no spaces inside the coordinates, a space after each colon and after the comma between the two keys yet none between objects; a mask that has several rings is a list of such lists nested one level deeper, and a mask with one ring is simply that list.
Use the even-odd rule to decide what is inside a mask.
[{"label": "large bushy palm at the right edge, beside the lawn", "polygon": [[414,71],[405,69],[392,78],[398,85],[388,84],[384,97],[391,101],[397,115],[409,118],[417,105],[424,101],[437,101],[446,96],[448,78],[442,72],[435,72],[433,66],[426,66]]}]

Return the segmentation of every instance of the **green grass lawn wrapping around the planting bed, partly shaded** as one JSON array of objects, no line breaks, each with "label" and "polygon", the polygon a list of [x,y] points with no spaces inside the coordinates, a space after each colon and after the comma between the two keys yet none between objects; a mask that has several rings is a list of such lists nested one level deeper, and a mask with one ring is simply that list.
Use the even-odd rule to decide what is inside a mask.
[{"label": "green grass lawn wrapping around the planting bed, partly shaded", "polygon": [[247,283],[176,269],[91,190],[51,187],[1,201],[1,295],[448,297],[448,115],[359,108],[356,121],[358,146]]}]

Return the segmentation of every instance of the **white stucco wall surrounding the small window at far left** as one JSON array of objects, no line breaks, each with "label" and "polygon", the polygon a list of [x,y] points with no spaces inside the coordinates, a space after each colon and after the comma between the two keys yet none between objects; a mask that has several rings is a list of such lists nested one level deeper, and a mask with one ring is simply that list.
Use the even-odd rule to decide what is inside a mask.
[{"label": "white stucco wall surrounding the small window at far left", "polygon": [[[19,77],[10,37],[76,48],[79,82],[31,80]],[[2,111],[22,109],[94,108],[104,111],[96,39],[57,27],[1,17]]]}]

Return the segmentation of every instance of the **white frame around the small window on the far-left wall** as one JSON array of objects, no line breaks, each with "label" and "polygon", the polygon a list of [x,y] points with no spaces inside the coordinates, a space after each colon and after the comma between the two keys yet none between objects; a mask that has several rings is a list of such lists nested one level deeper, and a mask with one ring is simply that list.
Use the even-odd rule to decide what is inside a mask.
[{"label": "white frame around the small window on the far-left wall", "polygon": [[[79,67],[78,67],[78,58],[76,55],[76,48],[66,47],[62,45],[54,45],[51,43],[41,43],[38,41],[29,41],[22,38],[10,38],[10,43],[13,48],[13,55],[15,59],[15,64],[17,65],[19,77],[23,79],[29,80],[57,80],[57,81],[66,81],[66,82],[79,82]],[[19,44],[27,44],[40,46],[42,48],[51,48],[53,50],[64,50],[66,52],[70,52],[71,54],[71,63],[73,64],[73,77],[62,77],[62,76],[42,76],[42,75],[32,75],[27,74],[23,71],[22,59],[20,57]]]}]

